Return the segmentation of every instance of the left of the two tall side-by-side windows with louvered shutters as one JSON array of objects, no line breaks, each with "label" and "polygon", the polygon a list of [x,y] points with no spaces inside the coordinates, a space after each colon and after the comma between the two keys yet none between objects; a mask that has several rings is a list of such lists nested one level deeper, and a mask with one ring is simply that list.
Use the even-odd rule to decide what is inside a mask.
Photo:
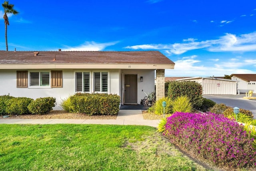
[{"label": "left of the two tall side-by-side windows with louvered shutters", "polygon": [[76,72],[76,92],[90,92],[90,72]]}]

